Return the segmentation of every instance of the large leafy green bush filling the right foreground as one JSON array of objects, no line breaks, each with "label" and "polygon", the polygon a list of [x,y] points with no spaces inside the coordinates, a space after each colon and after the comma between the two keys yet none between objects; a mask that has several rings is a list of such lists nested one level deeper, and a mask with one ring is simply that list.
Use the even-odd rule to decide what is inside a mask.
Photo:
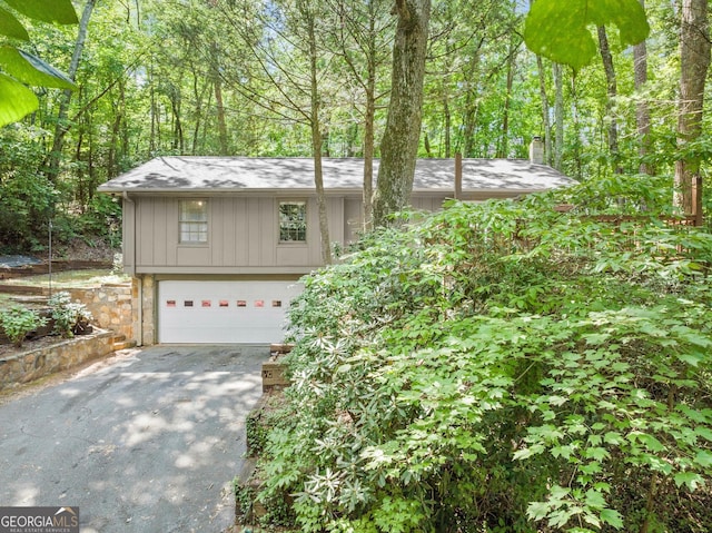
[{"label": "large leafy green bush filling the right foreground", "polygon": [[709,531],[712,236],[617,185],[453,203],[305,278],[259,497],[314,532]]}]

